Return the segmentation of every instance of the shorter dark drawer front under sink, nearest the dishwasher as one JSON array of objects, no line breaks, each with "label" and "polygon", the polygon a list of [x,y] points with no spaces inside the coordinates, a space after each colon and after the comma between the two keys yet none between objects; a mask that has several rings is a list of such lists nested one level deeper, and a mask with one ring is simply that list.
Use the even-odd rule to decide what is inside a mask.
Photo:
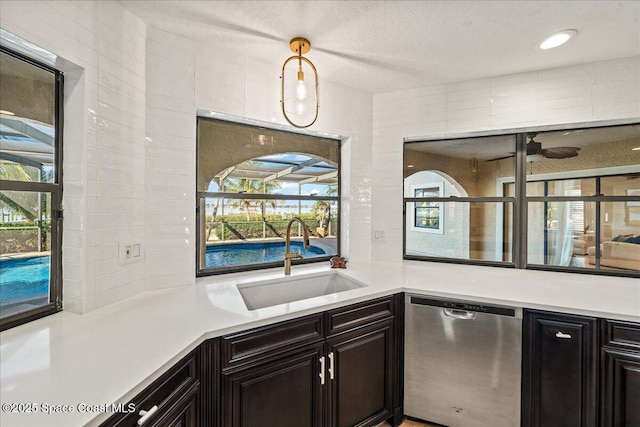
[{"label": "shorter dark drawer front under sink, nearest the dishwasher", "polygon": [[393,295],[327,312],[327,335],[335,335],[393,316]]}]

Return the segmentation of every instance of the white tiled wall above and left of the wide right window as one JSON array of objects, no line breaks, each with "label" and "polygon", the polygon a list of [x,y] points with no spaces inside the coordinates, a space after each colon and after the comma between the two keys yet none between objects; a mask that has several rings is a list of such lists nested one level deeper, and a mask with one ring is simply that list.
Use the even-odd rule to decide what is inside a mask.
[{"label": "white tiled wall above and left of the wide right window", "polygon": [[373,97],[372,259],[402,258],[402,139],[640,117],[640,57]]}]

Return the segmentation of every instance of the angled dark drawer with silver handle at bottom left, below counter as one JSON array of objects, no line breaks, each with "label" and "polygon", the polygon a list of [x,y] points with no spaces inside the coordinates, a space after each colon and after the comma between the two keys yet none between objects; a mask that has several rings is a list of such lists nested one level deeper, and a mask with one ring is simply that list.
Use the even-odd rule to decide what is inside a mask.
[{"label": "angled dark drawer with silver handle at bottom left, below counter", "polygon": [[145,423],[145,425],[153,426],[166,416],[171,415],[177,405],[190,400],[197,393],[198,387],[197,361],[195,353],[192,352],[131,399],[129,404],[124,405],[126,411],[129,409],[128,405],[133,404],[131,407],[135,409],[134,412],[115,414],[102,423],[101,427],[137,426],[140,411],[149,411],[157,406],[158,409],[154,415],[150,416],[148,422]]}]

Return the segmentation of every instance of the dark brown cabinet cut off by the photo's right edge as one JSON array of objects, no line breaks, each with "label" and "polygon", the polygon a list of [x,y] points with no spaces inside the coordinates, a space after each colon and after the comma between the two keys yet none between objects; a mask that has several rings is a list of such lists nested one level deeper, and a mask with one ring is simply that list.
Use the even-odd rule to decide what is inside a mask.
[{"label": "dark brown cabinet cut off by the photo's right edge", "polygon": [[640,325],[602,321],[603,427],[640,426]]}]

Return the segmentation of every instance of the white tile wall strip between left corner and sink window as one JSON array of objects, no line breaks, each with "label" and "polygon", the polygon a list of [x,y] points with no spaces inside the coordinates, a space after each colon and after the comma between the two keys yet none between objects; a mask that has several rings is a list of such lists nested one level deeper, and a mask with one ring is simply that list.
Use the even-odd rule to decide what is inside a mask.
[{"label": "white tile wall strip between left corner and sink window", "polygon": [[147,37],[144,280],[157,289],[195,282],[195,45]]}]

